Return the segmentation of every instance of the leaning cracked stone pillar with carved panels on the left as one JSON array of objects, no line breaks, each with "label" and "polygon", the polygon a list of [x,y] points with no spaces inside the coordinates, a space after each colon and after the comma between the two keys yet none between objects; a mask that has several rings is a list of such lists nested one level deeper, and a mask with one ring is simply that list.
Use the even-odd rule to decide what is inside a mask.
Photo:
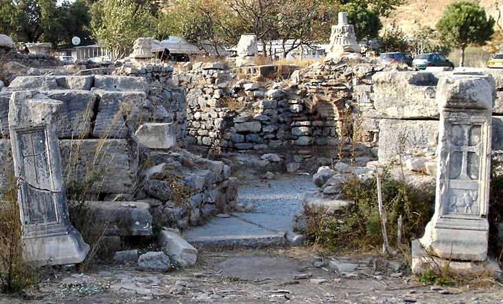
[{"label": "leaning cracked stone pillar with carved panels on the left", "polygon": [[39,266],[80,263],[89,252],[69,221],[54,124],[61,105],[35,91],[14,92],[9,102],[23,257]]}]

